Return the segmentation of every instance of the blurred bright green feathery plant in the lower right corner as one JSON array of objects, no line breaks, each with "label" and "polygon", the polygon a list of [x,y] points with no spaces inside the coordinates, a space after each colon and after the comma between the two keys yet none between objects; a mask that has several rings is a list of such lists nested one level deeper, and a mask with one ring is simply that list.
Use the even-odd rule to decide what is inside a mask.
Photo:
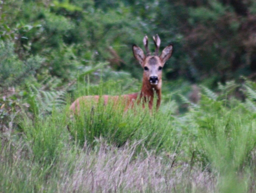
[{"label": "blurred bright green feathery plant in the lower right corner", "polygon": [[209,117],[207,127],[201,130],[203,133],[199,149],[204,150],[212,168],[217,168],[220,179],[225,181],[219,184],[222,191],[231,191],[234,186],[239,192],[245,191],[246,187],[234,174],[244,167],[255,143],[252,123],[247,122],[248,118],[252,119],[239,116],[237,110],[234,109],[222,118]]}]

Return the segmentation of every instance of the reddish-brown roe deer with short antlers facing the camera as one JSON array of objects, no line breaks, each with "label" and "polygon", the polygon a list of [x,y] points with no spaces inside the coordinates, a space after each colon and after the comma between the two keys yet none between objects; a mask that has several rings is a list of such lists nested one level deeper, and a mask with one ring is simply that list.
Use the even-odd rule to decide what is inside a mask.
[{"label": "reddish-brown roe deer with short antlers facing the camera", "polygon": [[[158,56],[161,40],[158,35],[153,37],[153,39],[156,46],[156,50],[153,55],[150,54],[148,49],[147,36],[143,38],[146,55],[144,54],[143,50],[137,45],[132,46],[135,59],[139,61],[141,67],[144,69],[141,92],[120,96],[102,95],[104,104],[107,104],[109,99],[113,100],[114,104],[116,101],[125,102],[125,110],[127,110],[128,108],[133,107],[135,101],[140,102],[142,100],[143,107],[145,107],[145,102],[148,102],[149,109],[152,109],[155,94],[157,97],[157,109],[159,108],[161,103],[162,69],[164,63],[172,56],[173,45],[169,44],[169,46],[165,47],[165,49],[162,51],[162,54]],[[81,103],[84,103],[85,105],[90,105],[92,102],[99,102],[99,99],[99,95],[79,97],[71,104],[69,109],[73,110],[76,113],[79,112]]]}]

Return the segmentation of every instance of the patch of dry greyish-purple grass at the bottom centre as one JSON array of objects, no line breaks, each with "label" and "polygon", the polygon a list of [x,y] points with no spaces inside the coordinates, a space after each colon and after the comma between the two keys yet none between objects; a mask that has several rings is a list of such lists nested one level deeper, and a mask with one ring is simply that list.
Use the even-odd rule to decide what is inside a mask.
[{"label": "patch of dry greyish-purple grass at the bottom centre", "polygon": [[87,150],[77,159],[61,191],[214,192],[213,174],[186,163],[172,164],[172,156],[134,155],[137,144],[124,148],[102,144],[97,153]]}]

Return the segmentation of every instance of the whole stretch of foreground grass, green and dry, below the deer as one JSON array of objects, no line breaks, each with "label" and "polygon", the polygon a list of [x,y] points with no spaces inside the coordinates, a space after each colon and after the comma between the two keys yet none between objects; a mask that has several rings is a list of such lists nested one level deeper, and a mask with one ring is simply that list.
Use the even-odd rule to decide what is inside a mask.
[{"label": "whole stretch of foreground grass, green and dry, below the deer", "polygon": [[212,94],[185,114],[110,101],[17,116],[1,132],[0,192],[255,192],[256,114]]}]

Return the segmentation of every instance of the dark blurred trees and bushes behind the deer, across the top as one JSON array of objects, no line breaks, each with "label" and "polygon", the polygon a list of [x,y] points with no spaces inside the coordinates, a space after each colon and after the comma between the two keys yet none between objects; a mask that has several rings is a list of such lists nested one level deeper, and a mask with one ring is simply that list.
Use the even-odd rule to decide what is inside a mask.
[{"label": "dark blurred trees and bushes behind the deer, across the top", "polygon": [[47,75],[63,85],[99,61],[140,79],[131,45],[142,46],[146,34],[158,34],[162,48],[174,44],[166,79],[214,88],[241,75],[254,78],[255,26],[250,0],[3,1],[1,88]]}]

